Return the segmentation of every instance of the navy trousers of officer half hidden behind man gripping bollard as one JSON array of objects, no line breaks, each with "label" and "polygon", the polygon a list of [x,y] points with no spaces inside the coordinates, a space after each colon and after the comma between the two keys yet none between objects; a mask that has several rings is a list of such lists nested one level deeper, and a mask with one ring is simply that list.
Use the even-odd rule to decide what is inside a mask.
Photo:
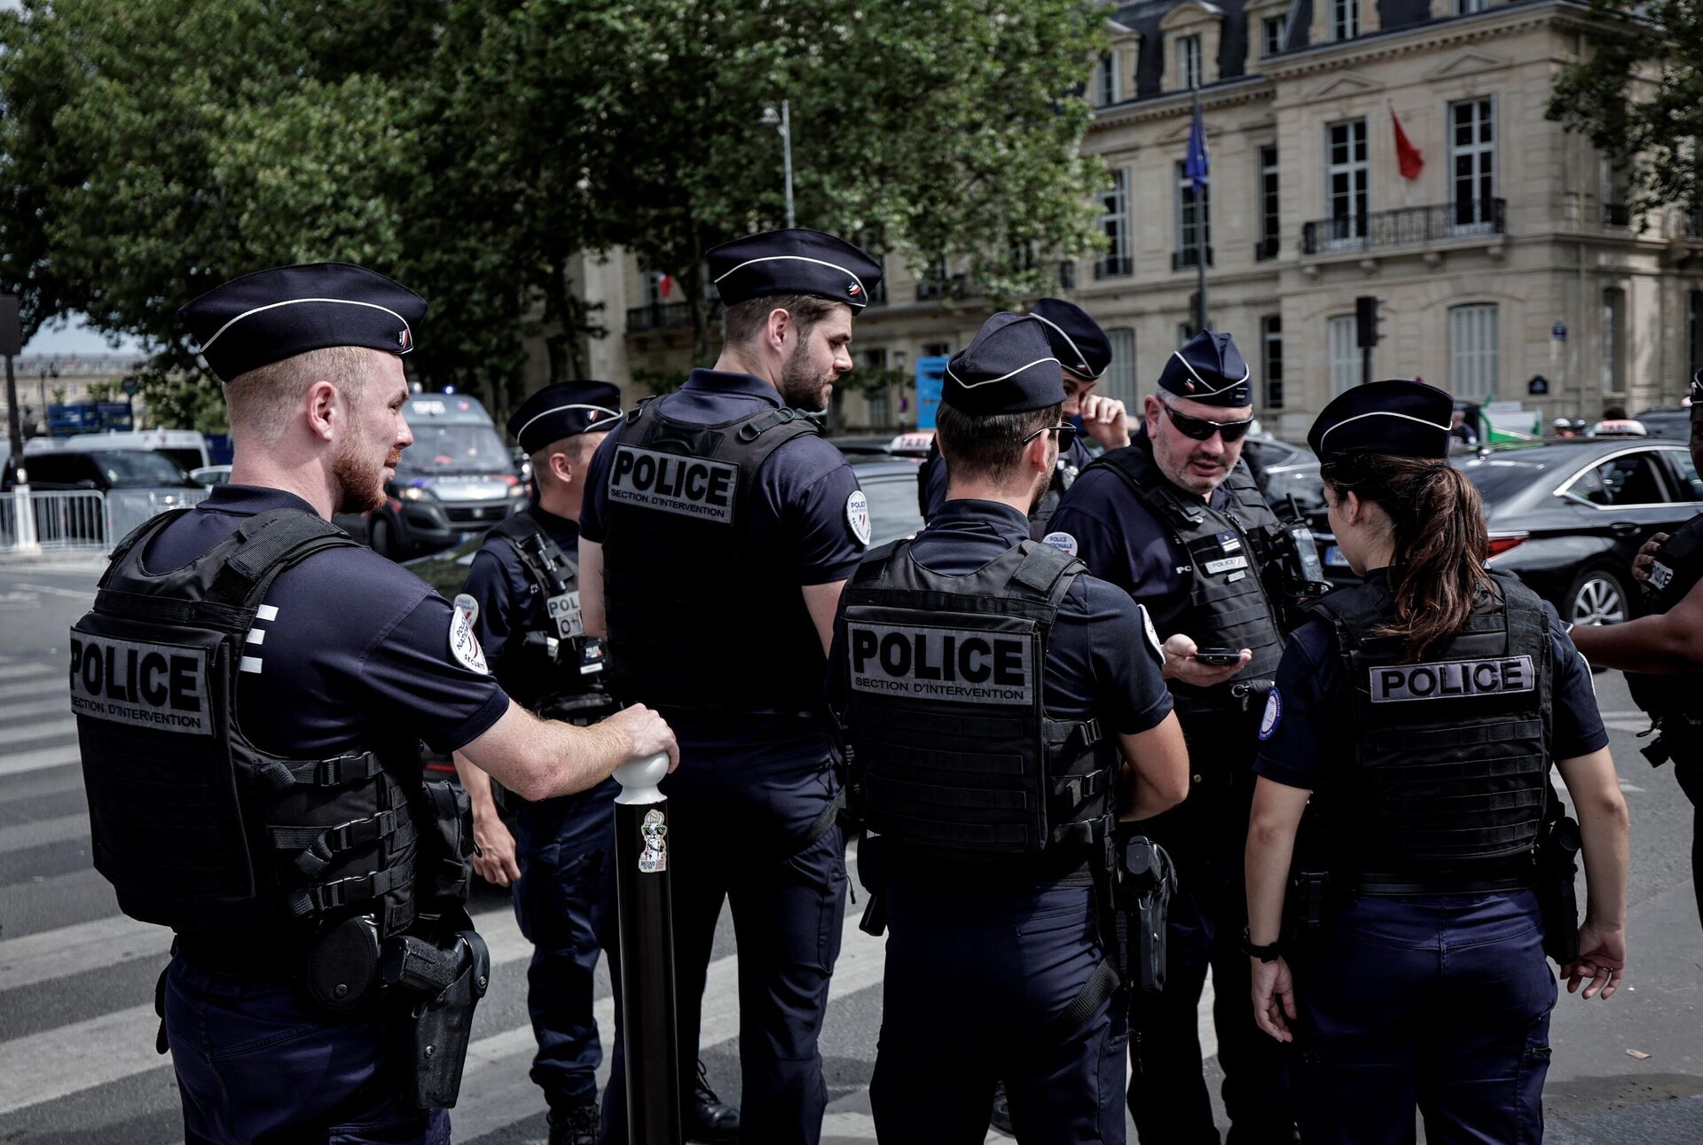
[{"label": "navy trousers of officer half hidden behind man gripping bollard", "polygon": [[[598,787],[525,803],[514,814],[514,852],[521,877],[514,884],[514,918],[533,944],[526,970],[526,1009],[538,1055],[531,1080],[552,1104],[588,1102],[598,1096],[603,1062],[593,1017],[598,952],[615,956],[615,818],[620,785]],[[620,1051],[620,1007],[615,1019]]]}]

